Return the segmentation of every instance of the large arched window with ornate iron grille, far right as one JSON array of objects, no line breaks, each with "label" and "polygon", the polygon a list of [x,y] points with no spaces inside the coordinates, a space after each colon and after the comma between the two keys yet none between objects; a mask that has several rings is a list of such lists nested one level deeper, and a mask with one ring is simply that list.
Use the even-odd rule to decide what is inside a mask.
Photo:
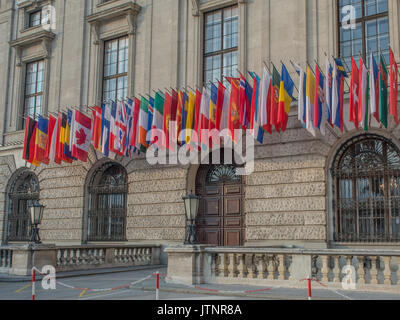
[{"label": "large arched window with ornate iron grille, far right", "polygon": [[391,141],[375,135],[350,140],[332,175],[335,241],[400,241],[400,152]]}]

